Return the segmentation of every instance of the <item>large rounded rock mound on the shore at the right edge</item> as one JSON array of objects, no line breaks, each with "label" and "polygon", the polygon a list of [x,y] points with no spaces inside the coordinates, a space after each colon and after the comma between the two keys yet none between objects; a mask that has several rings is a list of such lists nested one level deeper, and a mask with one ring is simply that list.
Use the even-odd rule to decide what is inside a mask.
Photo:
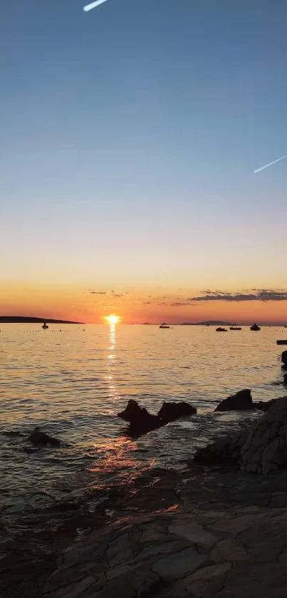
[{"label": "large rounded rock mound on the shore at the right edge", "polygon": [[231,461],[251,473],[287,468],[287,396],[270,401],[268,413],[260,421],[197,450],[195,460]]}]

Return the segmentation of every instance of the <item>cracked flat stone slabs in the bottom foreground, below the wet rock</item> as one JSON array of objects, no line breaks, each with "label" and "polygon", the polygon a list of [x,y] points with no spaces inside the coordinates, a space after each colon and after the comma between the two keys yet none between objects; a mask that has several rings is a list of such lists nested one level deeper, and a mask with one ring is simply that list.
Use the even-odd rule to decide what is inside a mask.
[{"label": "cracked flat stone slabs in the bottom foreground, below the wet rock", "polygon": [[287,509],[207,513],[105,528],[64,552],[41,598],[286,598]]}]

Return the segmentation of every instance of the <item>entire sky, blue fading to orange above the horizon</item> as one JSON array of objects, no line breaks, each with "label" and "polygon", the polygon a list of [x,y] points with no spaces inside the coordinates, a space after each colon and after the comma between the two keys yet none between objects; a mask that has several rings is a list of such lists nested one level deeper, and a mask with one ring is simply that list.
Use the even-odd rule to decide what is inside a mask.
[{"label": "entire sky, blue fading to orange above the horizon", "polygon": [[286,0],[84,4],[1,6],[0,314],[287,321]]}]

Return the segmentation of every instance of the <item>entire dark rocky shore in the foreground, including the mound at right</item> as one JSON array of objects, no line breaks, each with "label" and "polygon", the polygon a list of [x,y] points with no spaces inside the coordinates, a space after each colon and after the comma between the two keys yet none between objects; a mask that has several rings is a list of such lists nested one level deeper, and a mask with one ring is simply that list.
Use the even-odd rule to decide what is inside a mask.
[{"label": "entire dark rocky shore in the foreground, including the mound at right", "polygon": [[[73,505],[63,518],[56,508],[34,513],[41,531],[24,527],[2,545],[1,598],[285,597],[287,451],[276,461],[283,444],[270,446],[275,436],[286,443],[286,414],[287,397],[240,442],[229,438],[238,445],[229,458],[221,445],[216,466],[211,445],[180,473],[150,470],[115,489],[93,513]],[[266,448],[267,462],[281,468],[267,475],[259,467]],[[244,455],[253,463],[256,450],[250,473]]]}]

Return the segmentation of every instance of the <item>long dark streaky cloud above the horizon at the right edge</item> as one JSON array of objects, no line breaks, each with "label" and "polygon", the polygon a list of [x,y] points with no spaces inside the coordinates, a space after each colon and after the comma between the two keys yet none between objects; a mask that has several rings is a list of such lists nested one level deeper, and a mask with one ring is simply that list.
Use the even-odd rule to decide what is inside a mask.
[{"label": "long dark streaky cloud above the horizon at the right edge", "polygon": [[189,301],[287,301],[287,291],[252,289],[252,292],[229,293],[208,290],[200,297],[190,297]]}]

